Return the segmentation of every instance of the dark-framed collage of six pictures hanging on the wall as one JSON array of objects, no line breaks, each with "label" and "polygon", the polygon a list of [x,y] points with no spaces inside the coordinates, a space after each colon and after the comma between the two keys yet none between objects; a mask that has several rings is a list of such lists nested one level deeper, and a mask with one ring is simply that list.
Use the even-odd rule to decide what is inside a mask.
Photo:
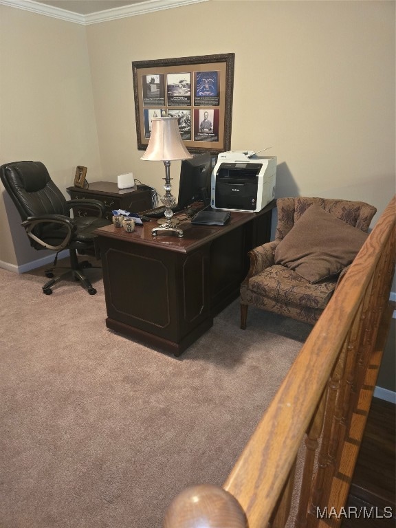
[{"label": "dark-framed collage of six pictures hanging on the wall", "polygon": [[133,61],[137,149],[146,150],[155,117],[177,117],[190,153],[231,148],[235,54]]}]

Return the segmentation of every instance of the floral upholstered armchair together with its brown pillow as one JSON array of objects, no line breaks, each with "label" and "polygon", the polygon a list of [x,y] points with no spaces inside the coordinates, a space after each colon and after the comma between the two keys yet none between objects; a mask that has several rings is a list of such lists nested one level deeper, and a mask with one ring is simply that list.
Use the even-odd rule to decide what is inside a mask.
[{"label": "floral upholstered armchair together with its brown pillow", "polygon": [[314,325],[362,247],[375,207],[360,201],[281,198],[275,240],[249,252],[241,329],[254,306]]}]

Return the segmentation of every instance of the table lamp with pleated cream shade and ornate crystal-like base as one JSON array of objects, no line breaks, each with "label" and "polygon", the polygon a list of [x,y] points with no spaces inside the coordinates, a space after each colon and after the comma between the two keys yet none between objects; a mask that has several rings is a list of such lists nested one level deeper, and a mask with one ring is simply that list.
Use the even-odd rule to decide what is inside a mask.
[{"label": "table lamp with pleated cream shade and ornate crystal-like base", "polygon": [[177,228],[172,221],[175,197],[170,194],[170,162],[176,159],[190,159],[192,155],[188,152],[181,139],[177,118],[153,118],[151,121],[151,136],[146,152],[141,159],[151,162],[164,162],[165,165],[165,195],[161,198],[165,206],[166,222],[157,228],[153,228],[151,234],[177,234],[183,236],[183,230]]}]

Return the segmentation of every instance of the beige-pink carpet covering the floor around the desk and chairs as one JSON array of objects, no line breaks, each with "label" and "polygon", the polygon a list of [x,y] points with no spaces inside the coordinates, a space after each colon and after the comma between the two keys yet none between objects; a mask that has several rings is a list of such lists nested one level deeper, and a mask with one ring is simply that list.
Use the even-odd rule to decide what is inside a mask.
[{"label": "beige-pink carpet covering the floor around the desk and chairs", "polygon": [[252,309],[243,331],[235,301],[175,358],[107,329],[87,273],[96,296],[45,296],[41,270],[0,269],[1,528],[161,527],[225,481],[311,329]]}]

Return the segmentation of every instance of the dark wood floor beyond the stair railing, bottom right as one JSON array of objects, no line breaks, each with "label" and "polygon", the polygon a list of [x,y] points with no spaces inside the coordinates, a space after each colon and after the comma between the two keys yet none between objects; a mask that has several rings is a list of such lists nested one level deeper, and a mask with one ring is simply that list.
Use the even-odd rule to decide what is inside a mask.
[{"label": "dark wood floor beyond the stair railing, bottom right", "polygon": [[[395,404],[373,398],[347,504],[361,515],[344,518],[342,528],[396,526],[395,418]],[[364,507],[371,518],[363,518]]]}]

